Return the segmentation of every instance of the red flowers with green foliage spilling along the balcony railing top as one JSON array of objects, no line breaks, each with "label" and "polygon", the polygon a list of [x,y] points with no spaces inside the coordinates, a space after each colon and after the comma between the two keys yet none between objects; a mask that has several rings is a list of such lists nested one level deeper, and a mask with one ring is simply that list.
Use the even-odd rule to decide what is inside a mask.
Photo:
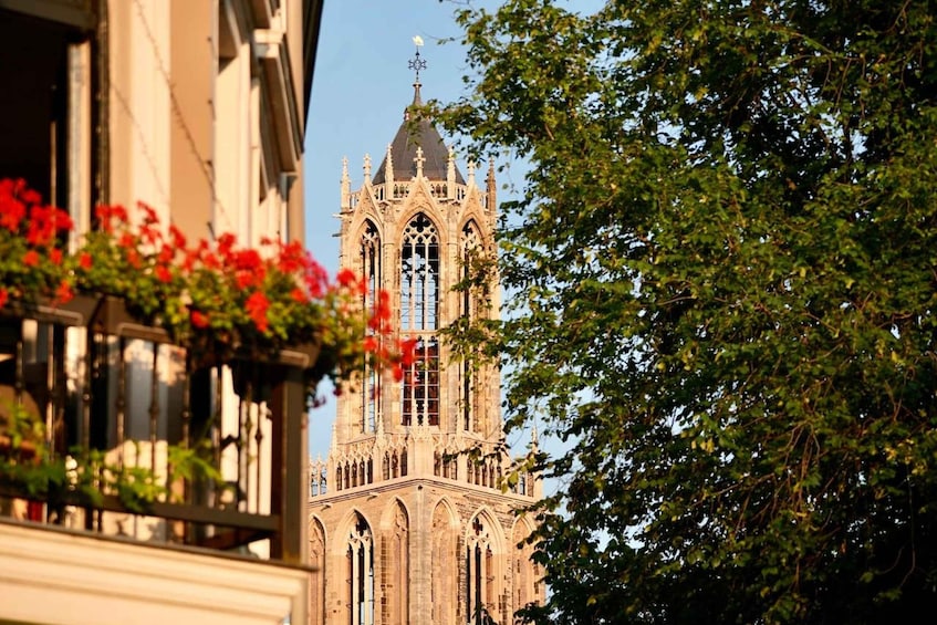
[{"label": "red flowers with green foliage spilling along the balcony railing top", "polygon": [[366,361],[399,378],[413,358],[413,345],[394,337],[387,293],[363,310],[365,281],[347,270],[330,281],[298,241],[264,239],[254,249],[221,235],[189,242],[139,204],[133,213],[97,207],[94,230],[64,254],[71,219],[10,180],[0,181],[0,309],[10,298],[30,304],[111,295],[196,361],[275,357],[314,345],[315,381],[350,377]]}]

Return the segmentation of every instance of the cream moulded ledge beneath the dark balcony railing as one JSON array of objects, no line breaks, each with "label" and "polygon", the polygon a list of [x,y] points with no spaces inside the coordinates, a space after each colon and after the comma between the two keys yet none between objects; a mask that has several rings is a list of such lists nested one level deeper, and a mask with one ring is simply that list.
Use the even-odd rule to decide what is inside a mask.
[{"label": "cream moulded ledge beneath the dark balcony railing", "polygon": [[305,622],[293,567],[0,522],[2,619],[56,625]]}]

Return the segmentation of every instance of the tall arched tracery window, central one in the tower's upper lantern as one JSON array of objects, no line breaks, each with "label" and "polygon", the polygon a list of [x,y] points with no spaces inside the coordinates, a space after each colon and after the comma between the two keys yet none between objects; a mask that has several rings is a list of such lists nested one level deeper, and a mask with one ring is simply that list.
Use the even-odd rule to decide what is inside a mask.
[{"label": "tall arched tracery window, central one in the tower's upper lantern", "polygon": [[400,248],[400,327],[416,340],[404,372],[402,424],[439,425],[439,241],[424,213],[404,230]]}]

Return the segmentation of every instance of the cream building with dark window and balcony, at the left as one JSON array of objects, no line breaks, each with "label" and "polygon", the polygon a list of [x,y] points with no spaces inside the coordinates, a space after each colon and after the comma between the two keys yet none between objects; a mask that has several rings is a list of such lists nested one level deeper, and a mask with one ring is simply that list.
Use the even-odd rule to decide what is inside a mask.
[{"label": "cream building with dark window and balcony, at the left", "polygon": [[[301,240],[321,12],[321,0],[0,0],[0,178],[67,210],[73,246],[93,207],[133,215],[137,201],[191,240]],[[198,425],[227,482],[173,485],[180,503],[139,514],[111,499],[53,509],[0,475],[0,622],[304,622],[303,363],[254,363],[269,367],[261,398],[228,364],[191,371],[165,333],[101,301],[0,312],[0,392],[45,416],[50,454],[77,446],[165,476],[167,444]]]}]

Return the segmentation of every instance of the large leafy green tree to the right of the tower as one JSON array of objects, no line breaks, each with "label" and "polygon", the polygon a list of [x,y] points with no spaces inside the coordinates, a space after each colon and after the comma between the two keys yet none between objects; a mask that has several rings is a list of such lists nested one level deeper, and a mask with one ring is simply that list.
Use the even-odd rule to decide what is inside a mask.
[{"label": "large leafy green tree to the right of the tower", "polygon": [[438,113],[531,166],[492,347],[509,425],[570,441],[531,616],[930,610],[937,3],[558,4],[460,11]]}]

